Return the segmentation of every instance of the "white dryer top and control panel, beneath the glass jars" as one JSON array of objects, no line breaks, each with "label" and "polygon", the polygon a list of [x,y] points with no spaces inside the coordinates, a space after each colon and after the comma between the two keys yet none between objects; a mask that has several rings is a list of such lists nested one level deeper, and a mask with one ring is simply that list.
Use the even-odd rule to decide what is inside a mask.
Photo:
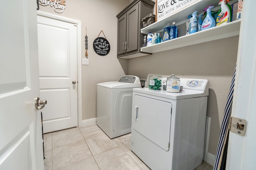
[{"label": "white dryer top and control panel, beneath the glass jars", "polygon": [[149,90],[148,88],[133,89],[133,91],[173,100],[209,95],[208,80],[206,79],[180,78],[180,85],[183,86],[183,90],[179,93],[166,92],[166,90]]}]

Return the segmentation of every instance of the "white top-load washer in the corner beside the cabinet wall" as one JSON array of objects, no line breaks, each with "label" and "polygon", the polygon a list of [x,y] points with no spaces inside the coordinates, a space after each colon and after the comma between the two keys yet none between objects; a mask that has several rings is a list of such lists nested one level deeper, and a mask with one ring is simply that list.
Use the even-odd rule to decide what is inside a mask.
[{"label": "white top-load washer in the corner beside the cabinet wall", "polygon": [[97,125],[110,139],[131,132],[133,88],[141,88],[137,76],[97,84]]}]

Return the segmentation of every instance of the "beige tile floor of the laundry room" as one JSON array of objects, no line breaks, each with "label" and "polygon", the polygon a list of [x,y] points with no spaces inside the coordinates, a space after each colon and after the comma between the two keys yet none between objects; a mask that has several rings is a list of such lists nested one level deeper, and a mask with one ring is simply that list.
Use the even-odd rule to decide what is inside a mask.
[{"label": "beige tile floor of the laundry room", "polygon": [[[150,170],[131,150],[131,134],[110,139],[97,125],[44,134],[45,170]],[[196,170],[212,170],[203,162]]]}]

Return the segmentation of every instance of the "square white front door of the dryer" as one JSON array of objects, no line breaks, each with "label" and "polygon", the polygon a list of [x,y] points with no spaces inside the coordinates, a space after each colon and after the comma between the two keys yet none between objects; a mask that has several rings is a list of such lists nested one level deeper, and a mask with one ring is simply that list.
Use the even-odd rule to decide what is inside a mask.
[{"label": "square white front door of the dryer", "polygon": [[133,128],[168,151],[172,104],[144,96],[134,96]]}]

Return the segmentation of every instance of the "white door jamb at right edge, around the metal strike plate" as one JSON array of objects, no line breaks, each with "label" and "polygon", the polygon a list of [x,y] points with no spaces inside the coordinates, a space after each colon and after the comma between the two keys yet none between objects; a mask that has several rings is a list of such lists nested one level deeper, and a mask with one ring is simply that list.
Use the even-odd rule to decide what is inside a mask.
[{"label": "white door jamb at right edge, around the metal strike plate", "polygon": [[230,132],[227,170],[256,169],[256,23],[250,20],[255,6],[255,0],[243,2],[231,113],[232,117],[246,119],[246,136]]}]

